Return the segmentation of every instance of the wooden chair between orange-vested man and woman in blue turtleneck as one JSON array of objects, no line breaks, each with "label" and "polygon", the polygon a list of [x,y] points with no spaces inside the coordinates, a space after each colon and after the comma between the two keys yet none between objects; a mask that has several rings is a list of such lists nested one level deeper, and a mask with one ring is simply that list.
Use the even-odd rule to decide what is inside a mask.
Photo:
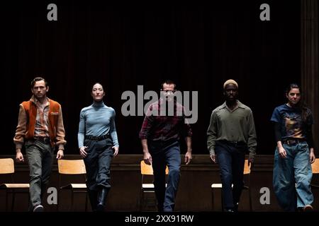
[{"label": "wooden chair between orange-vested man and woman in blue turtleneck", "polygon": [[74,194],[85,194],[85,211],[87,210],[87,196],[86,196],[86,184],[65,184],[61,186],[62,175],[83,175],[84,182],[86,181],[86,169],[84,160],[57,160],[57,167],[59,169],[59,201],[57,203],[57,210],[60,206],[61,191],[63,189],[69,189],[71,191],[71,210],[74,210]]}]

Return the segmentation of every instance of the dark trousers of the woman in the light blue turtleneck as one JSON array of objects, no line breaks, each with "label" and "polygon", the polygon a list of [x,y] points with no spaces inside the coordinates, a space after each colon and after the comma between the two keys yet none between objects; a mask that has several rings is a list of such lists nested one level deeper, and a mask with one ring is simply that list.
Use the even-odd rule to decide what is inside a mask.
[{"label": "dark trousers of the woman in the light blue turtleneck", "polygon": [[113,158],[111,138],[101,141],[85,139],[84,145],[88,147],[84,158],[87,188],[91,191],[103,187],[110,189],[110,167]]}]

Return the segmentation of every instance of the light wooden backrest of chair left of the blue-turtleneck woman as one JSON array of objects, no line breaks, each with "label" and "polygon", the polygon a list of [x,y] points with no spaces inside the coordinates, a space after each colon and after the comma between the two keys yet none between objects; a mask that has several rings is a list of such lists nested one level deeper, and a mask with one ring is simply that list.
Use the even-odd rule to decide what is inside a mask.
[{"label": "light wooden backrest of chair left of the blue-turtleneck woman", "polygon": [[57,160],[60,174],[86,174],[84,160]]}]

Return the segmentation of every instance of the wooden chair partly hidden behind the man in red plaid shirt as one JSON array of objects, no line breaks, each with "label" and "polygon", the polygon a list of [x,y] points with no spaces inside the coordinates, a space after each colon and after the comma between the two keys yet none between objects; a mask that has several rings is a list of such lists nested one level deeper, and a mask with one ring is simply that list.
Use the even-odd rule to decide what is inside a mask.
[{"label": "wooden chair partly hidden behind the man in red plaid shirt", "polygon": [[[165,169],[165,174],[169,173],[168,167]],[[142,174],[142,183],[141,183],[141,191],[140,191],[140,211],[144,206],[144,194],[145,193],[155,193],[154,184],[150,183],[150,177],[154,180],[153,177],[153,168],[152,165],[147,165],[144,160],[140,161],[140,174]],[[148,177],[148,178],[147,178]],[[147,183],[148,179],[148,183]],[[165,184],[167,186],[167,184]]]}]

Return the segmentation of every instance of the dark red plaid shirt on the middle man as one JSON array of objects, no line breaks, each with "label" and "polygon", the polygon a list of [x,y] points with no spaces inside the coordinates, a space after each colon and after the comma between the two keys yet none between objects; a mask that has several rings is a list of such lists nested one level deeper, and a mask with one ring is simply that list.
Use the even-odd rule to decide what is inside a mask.
[{"label": "dark red plaid shirt on the middle man", "polygon": [[[140,139],[169,141],[172,139],[179,140],[181,135],[191,136],[191,126],[187,123],[184,107],[174,101],[174,116],[167,116],[167,112],[163,111],[162,103],[163,100],[160,99],[148,108],[140,130]],[[169,105],[167,104],[166,109],[168,108]]]}]

